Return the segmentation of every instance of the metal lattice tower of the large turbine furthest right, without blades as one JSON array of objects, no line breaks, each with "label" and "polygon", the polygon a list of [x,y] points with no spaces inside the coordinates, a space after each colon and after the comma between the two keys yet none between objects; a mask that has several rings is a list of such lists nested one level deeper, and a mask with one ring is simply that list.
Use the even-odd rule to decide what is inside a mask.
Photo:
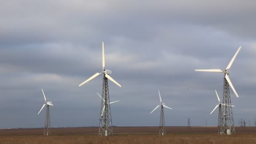
[{"label": "metal lattice tower of the large turbine furthest right, without blades", "polygon": [[[227,75],[227,74],[225,74]],[[234,119],[232,114],[231,99],[229,93],[229,83],[224,77],[223,85],[223,107],[222,107],[222,123],[221,123],[221,134],[235,134]]]}]

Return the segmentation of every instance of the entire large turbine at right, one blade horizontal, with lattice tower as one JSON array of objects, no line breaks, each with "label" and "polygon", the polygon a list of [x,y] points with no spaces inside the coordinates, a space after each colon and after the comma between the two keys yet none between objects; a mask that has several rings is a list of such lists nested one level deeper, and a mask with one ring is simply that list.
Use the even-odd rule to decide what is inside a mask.
[{"label": "entire large turbine at right, one blade horizontal, with lattice tower", "polygon": [[230,99],[230,93],[229,93],[229,86],[232,88],[234,91],[235,95],[237,97],[238,94],[235,91],[235,88],[233,84],[231,83],[229,79],[229,73],[228,70],[232,66],[237,54],[239,53],[241,47],[238,48],[237,52],[229,62],[227,68],[225,70],[221,69],[195,69],[197,72],[223,72],[224,73],[224,85],[223,85],[223,104],[225,104],[224,107],[222,107],[222,122],[221,122],[221,133],[219,134],[235,134],[235,127],[234,127],[234,119],[233,119],[233,114],[232,114],[232,107],[231,107],[231,99]]}]

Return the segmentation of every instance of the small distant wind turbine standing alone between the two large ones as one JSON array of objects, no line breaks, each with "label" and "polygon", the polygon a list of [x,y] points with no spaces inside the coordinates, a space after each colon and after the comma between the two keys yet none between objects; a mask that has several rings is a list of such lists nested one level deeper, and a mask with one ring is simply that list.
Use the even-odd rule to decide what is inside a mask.
[{"label": "small distant wind turbine standing alone between the two large ones", "polygon": [[[157,105],[157,107],[155,107],[155,109],[153,109],[152,112],[154,112],[158,107],[161,106],[159,135],[164,135],[164,134],[166,134],[166,131],[165,131],[165,115],[164,115],[164,112],[163,112],[163,107],[166,107],[168,109],[172,109],[172,108],[167,107],[167,106],[165,106],[164,103],[162,103],[162,99],[161,99],[161,95],[160,95],[160,91],[159,90],[158,90],[158,93],[159,93],[159,98],[160,98],[160,105]],[[152,112],[150,112],[150,114]]]}]

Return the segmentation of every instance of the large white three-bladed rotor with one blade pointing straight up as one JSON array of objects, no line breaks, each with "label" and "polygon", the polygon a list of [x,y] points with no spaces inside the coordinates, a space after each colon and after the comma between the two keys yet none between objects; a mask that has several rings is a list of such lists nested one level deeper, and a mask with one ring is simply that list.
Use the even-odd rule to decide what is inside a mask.
[{"label": "large white three-bladed rotor with one blade pointing straight up", "polygon": [[105,69],[104,42],[102,42],[102,72],[101,73],[97,72],[96,74],[94,74],[93,76],[91,76],[90,78],[88,78],[87,80],[85,80],[83,83],[81,83],[78,86],[80,87],[80,86],[84,85],[85,83],[89,82],[90,80],[94,79],[95,77],[98,77],[100,74],[104,74],[105,77],[107,77],[113,83],[115,83],[116,85],[121,87],[121,85],[119,83],[117,83],[112,77],[109,76],[110,74],[112,74],[112,71]]}]

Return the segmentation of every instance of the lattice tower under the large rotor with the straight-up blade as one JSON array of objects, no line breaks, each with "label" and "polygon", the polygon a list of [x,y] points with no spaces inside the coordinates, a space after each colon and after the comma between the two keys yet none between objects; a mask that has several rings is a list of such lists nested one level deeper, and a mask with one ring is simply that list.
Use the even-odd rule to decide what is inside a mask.
[{"label": "lattice tower under the large rotor with the straight-up blade", "polygon": [[103,77],[101,111],[99,117],[99,136],[113,135],[112,118],[109,102],[108,79]]}]

